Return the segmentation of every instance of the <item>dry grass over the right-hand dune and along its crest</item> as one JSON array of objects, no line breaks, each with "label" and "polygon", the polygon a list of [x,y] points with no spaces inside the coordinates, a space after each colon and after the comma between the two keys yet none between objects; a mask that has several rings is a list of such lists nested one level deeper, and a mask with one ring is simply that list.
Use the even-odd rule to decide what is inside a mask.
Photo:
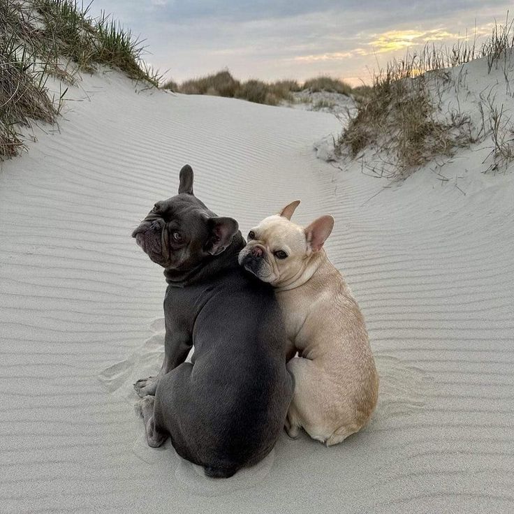
[{"label": "dry grass over the right-hand dune and along its crest", "polygon": [[[513,24],[507,18],[504,26],[494,27],[480,51],[474,41],[460,41],[450,48],[426,45],[420,52],[391,61],[386,70],[374,76],[371,87],[353,90],[358,108],[355,114],[348,113],[349,122],[337,141],[336,152],[355,158],[365,149],[374,149],[383,166],[374,168],[373,175],[402,179],[434,156],[450,156],[457,147],[476,142],[471,118],[460,112],[441,112],[441,98],[432,94],[429,82],[433,86],[436,80],[448,81],[446,68],[480,57],[487,57],[491,71],[501,59],[507,59],[513,45]],[[488,133],[492,134],[495,168],[514,160],[513,139],[502,135],[499,127],[502,115],[501,108],[495,112],[490,106]]]}]

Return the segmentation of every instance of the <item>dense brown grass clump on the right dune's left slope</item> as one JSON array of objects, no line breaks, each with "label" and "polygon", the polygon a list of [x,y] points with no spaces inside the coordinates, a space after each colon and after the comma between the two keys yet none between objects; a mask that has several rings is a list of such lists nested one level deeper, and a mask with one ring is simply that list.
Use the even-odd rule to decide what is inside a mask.
[{"label": "dense brown grass clump on the right dune's left slope", "polygon": [[[426,78],[405,76],[404,62],[393,62],[358,100],[358,110],[337,142],[356,157],[374,147],[392,159],[376,175],[401,179],[435,155],[451,155],[471,144],[469,118],[443,119],[429,94]],[[388,165],[391,163],[388,162]]]}]

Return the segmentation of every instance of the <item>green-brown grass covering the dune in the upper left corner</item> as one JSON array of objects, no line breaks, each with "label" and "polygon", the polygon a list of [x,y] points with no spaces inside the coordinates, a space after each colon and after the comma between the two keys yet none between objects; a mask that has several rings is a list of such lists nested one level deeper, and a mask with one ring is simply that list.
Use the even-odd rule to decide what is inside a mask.
[{"label": "green-brown grass covering the dune in the upper left corner", "polygon": [[56,121],[66,91],[51,99],[49,75],[73,82],[78,71],[105,64],[159,84],[142,60],[141,42],[110,17],[88,11],[76,0],[0,0],[0,159],[20,152],[22,126]]}]

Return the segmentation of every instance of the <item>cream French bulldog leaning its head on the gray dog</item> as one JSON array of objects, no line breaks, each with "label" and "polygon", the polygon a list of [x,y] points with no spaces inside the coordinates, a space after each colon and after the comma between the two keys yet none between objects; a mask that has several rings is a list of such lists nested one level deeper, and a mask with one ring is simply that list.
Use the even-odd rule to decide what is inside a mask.
[{"label": "cream French bulldog leaning its head on the gray dog", "polygon": [[330,446],[367,423],[379,377],[358,304],[323,249],[334,219],[298,226],[290,220],[299,204],[252,228],[239,263],[274,286],[284,313],[287,367],[295,376],[286,431],[294,438],[302,427]]}]

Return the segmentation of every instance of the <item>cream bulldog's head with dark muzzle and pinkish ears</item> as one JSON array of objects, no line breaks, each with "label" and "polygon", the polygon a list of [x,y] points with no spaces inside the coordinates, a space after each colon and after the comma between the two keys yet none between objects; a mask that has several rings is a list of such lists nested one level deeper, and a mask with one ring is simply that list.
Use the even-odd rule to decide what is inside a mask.
[{"label": "cream bulldog's head with dark muzzle and pinkish ears", "polygon": [[334,225],[332,216],[321,216],[304,228],[289,221],[300,201],[252,228],[239,263],[272,286],[287,286],[306,274],[311,256],[323,247]]}]

